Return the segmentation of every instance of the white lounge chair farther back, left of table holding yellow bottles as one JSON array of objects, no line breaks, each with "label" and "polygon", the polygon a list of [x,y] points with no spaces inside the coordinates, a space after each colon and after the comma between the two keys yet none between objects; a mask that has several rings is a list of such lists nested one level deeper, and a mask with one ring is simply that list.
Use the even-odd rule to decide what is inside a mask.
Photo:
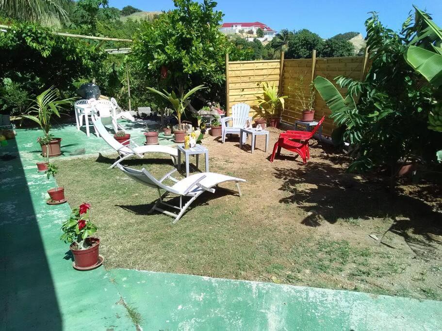
[{"label": "white lounge chair farther back, left of table holding yellow bottles", "polygon": [[109,169],[114,168],[115,165],[117,165],[124,159],[130,158],[132,156],[143,158],[145,153],[168,154],[172,158],[174,165],[177,164],[178,150],[176,148],[170,146],[162,146],[162,145],[139,146],[135,142],[133,142],[133,139],[128,140],[129,142],[131,142],[131,144],[123,145],[122,143],[117,142],[115,140],[114,135],[112,135],[107,131],[106,127],[101,123],[101,120],[99,118],[92,116],[92,123],[94,124],[94,127],[101,136],[101,138],[103,138],[104,141],[107,142],[109,146],[114,148],[120,157],[118,160],[114,162],[114,164],[112,164],[109,167]]}]

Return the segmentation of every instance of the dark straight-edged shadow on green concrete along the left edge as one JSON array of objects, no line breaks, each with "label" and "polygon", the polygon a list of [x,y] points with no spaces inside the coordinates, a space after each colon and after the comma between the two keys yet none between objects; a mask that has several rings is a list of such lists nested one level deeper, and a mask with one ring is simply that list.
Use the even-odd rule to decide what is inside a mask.
[{"label": "dark straight-edged shadow on green concrete along the left edge", "polygon": [[0,161],[0,329],[62,330],[35,202],[16,141],[9,142],[2,152],[17,158]]}]

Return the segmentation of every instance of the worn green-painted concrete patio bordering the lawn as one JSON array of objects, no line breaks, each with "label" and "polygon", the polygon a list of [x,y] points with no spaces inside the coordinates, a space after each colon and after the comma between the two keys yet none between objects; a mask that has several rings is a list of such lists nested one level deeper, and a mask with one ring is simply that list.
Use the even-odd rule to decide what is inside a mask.
[{"label": "worn green-painted concrete patio bordering the lawn", "polygon": [[[69,205],[46,205],[53,182],[36,173],[40,131],[17,131],[0,149],[19,156],[0,160],[1,330],[135,330],[121,299],[137,308],[143,330],[440,330],[438,301],[128,269],[76,271],[58,239]],[[143,139],[140,128],[130,132]],[[75,126],[54,133],[65,155],[83,147],[111,152]]]}]

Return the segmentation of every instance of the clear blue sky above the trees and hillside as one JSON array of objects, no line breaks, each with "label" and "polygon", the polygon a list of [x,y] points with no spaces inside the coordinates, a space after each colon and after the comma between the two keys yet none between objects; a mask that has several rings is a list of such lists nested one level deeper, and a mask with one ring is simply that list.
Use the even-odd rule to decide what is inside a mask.
[{"label": "clear blue sky above the trees and hillside", "polygon": [[[161,11],[173,8],[172,0],[110,0],[110,5],[126,5],[144,11]],[[370,11],[379,12],[383,24],[398,30],[412,9],[412,4],[433,14],[442,25],[442,0],[218,0],[218,10],[224,22],[260,21],[274,30],[309,29],[323,38],[340,32],[364,32],[364,21]],[[364,34],[364,33],[362,33]],[[364,34],[365,36],[365,34]]]}]

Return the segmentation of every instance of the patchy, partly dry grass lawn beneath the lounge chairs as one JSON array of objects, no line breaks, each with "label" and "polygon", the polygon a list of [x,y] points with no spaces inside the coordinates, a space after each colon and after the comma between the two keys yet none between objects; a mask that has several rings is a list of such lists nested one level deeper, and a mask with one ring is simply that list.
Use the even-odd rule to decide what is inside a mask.
[{"label": "patchy, partly dry grass lawn beneath the lounge chairs", "polygon": [[[243,196],[205,193],[175,225],[147,213],[155,189],[107,169],[114,154],[56,161],[69,204],[92,204],[106,268],[442,299],[441,188],[403,181],[392,194],[381,175],[345,173],[345,157],[315,142],[307,165],[288,153],[270,163],[261,140],[253,155],[237,139],[204,144],[211,171],[247,180]],[[126,164],[157,178],[172,167],[161,155]]]}]

